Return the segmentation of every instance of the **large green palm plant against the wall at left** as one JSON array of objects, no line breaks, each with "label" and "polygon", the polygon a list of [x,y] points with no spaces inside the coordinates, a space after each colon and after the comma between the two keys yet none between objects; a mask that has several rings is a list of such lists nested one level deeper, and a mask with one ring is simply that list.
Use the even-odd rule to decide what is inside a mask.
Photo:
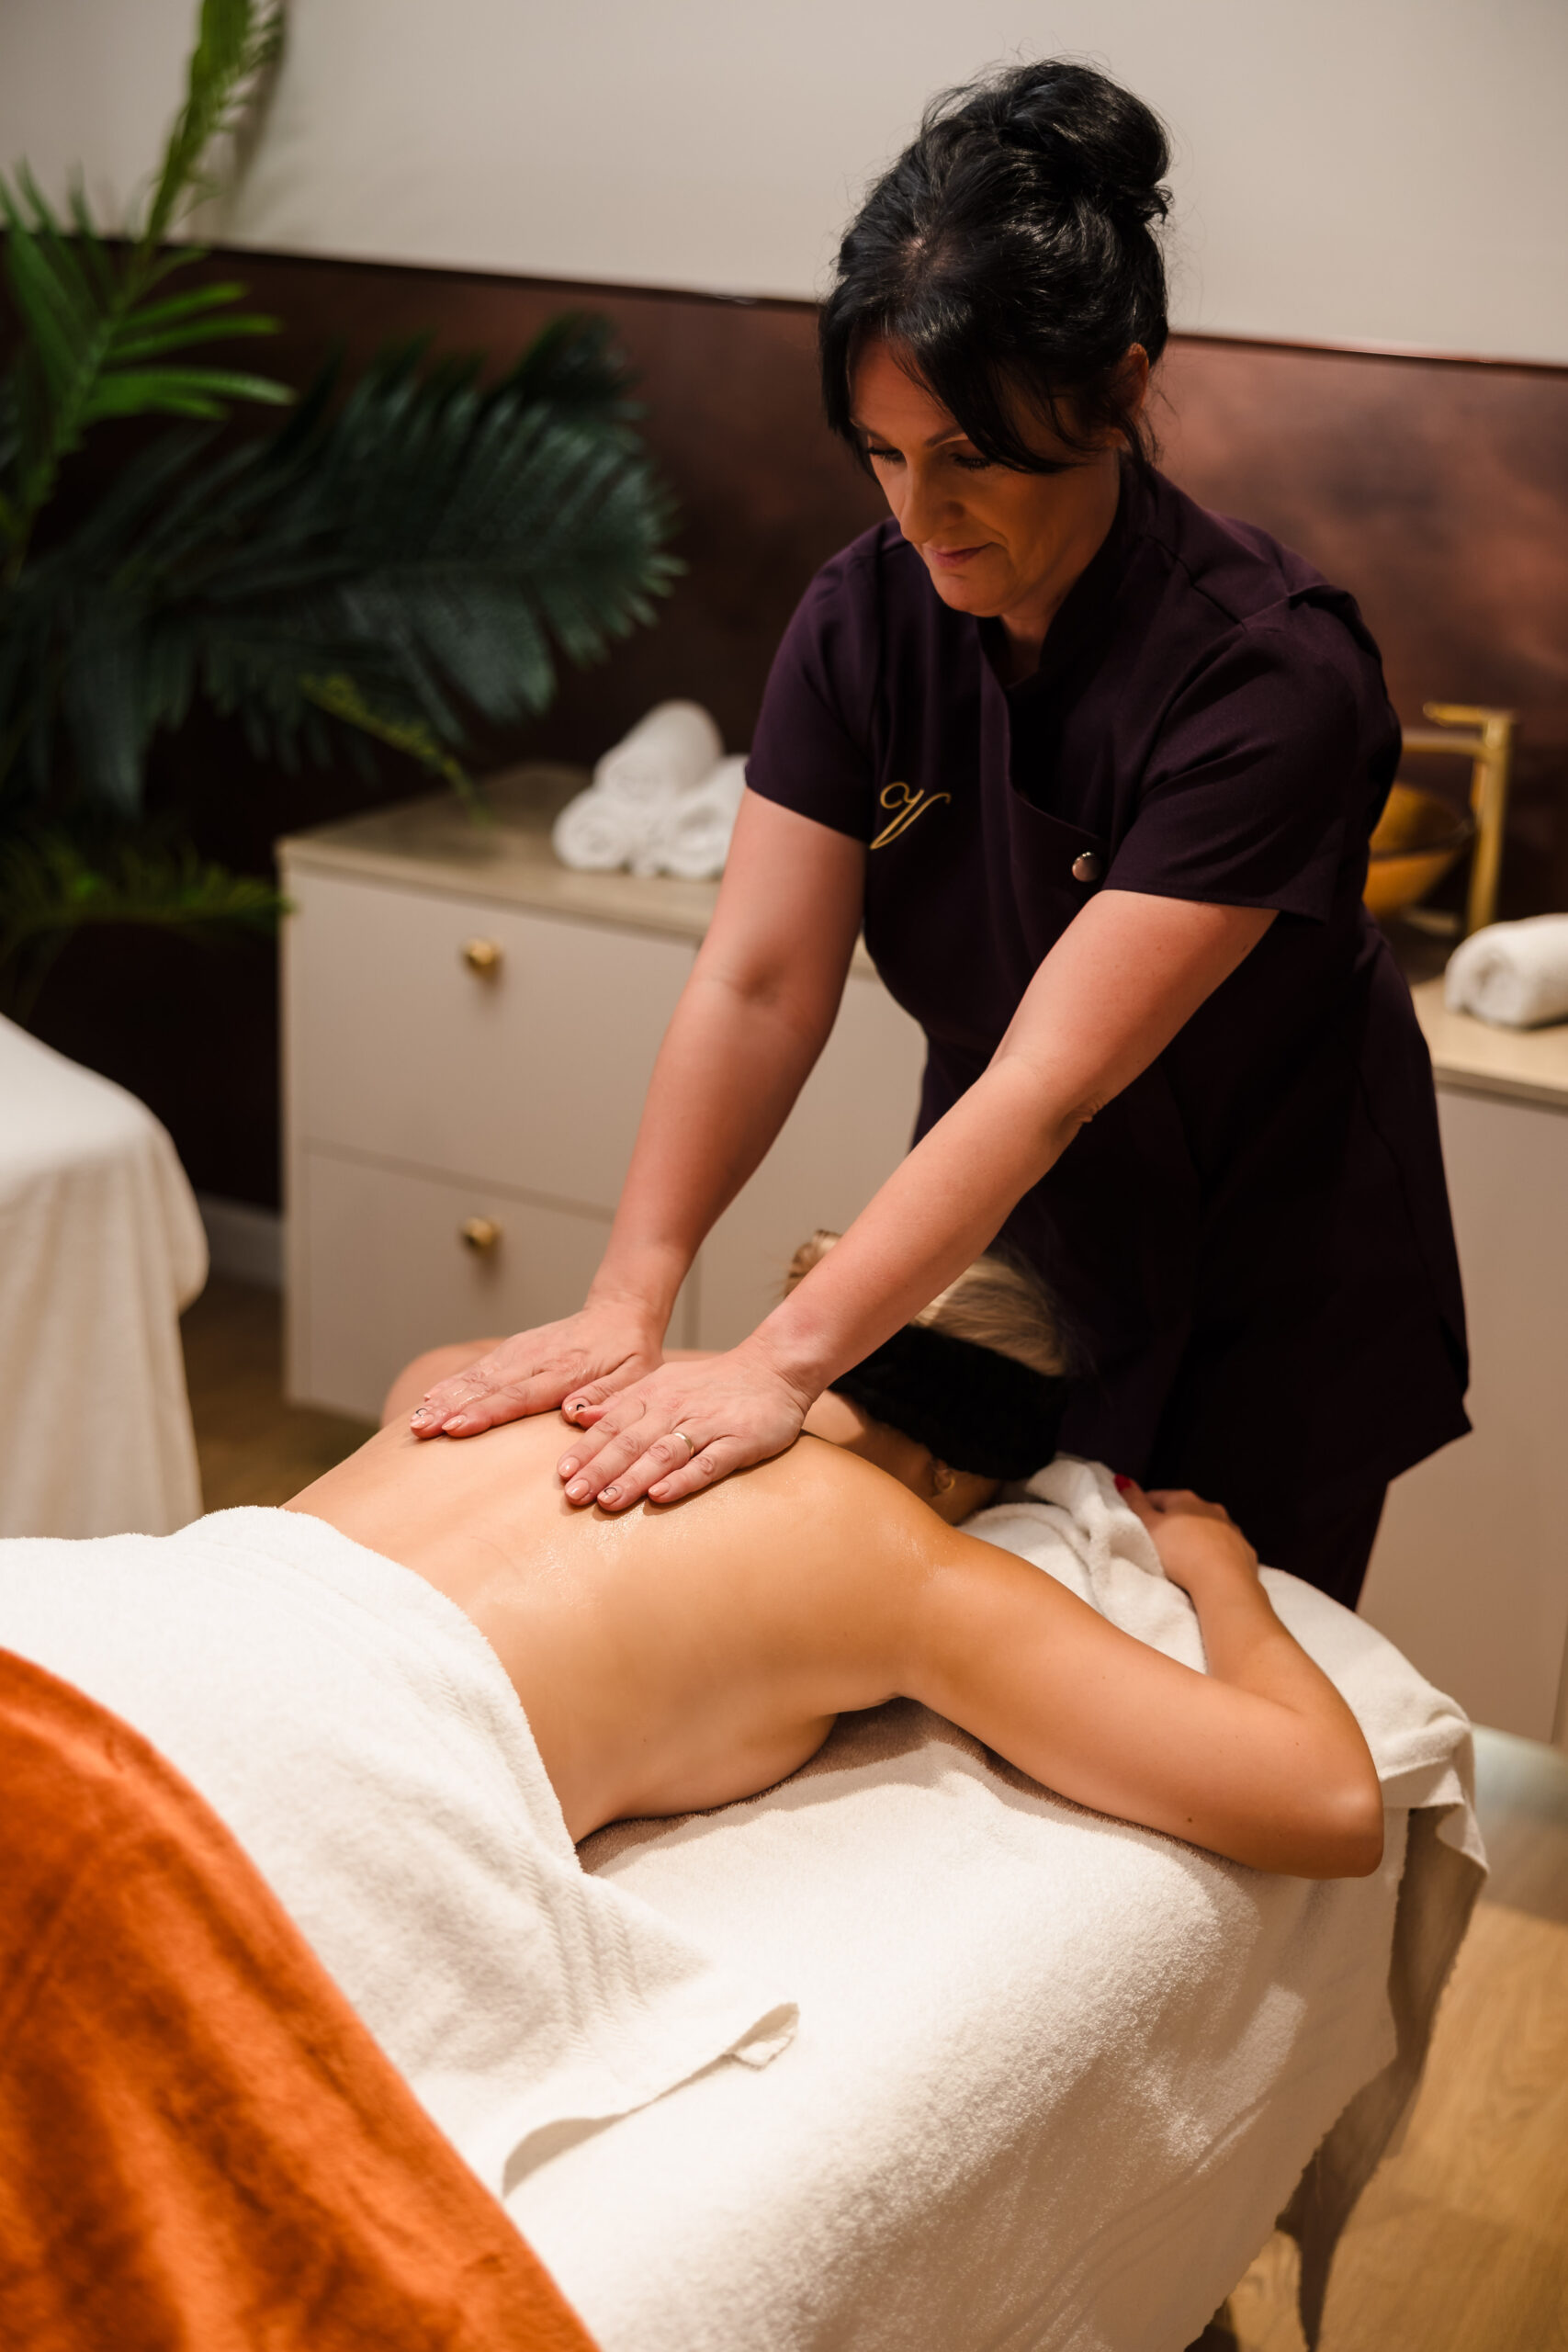
[{"label": "large green palm plant against the wall at left", "polygon": [[[261,755],[371,741],[461,790],[465,717],[541,713],[557,661],[599,659],[679,569],[607,327],[552,322],[496,383],[477,360],[327,369],[282,423],[223,430],[266,376],[193,360],[275,322],[240,285],[169,292],[167,247],[212,143],[254,103],[280,16],[202,0],[188,94],[143,219],[118,240],[80,188],[61,221],[0,181],[16,315],[0,386],[0,1007],[24,1016],[92,922],[266,929],[270,884],[143,816],[148,750],[202,699]],[[52,529],[61,470],[106,419],[179,423]]]}]

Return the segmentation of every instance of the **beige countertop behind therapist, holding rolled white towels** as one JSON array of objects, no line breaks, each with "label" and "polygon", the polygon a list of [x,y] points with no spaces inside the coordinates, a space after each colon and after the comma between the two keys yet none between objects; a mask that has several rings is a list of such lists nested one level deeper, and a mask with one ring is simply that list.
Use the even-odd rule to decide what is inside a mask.
[{"label": "beige countertop behind therapist, holding rolled white towels", "polygon": [[[719,896],[717,882],[583,875],[557,861],[550,826],[585,783],[588,771],[581,767],[529,762],[487,779],[489,821],[475,821],[451,793],[442,793],[296,833],[277,844],[284,887],[292,870],[353,873],[400,889],[456,889],[465,898],[494,898],[498,906],[527,906],[578,922],[703,938]],[[865,948],[856,948],[856,969],[872,969]],[[1441,978],[1418,981],[1410,995],[1439,1087],[1568,1112],[1568,1023],[1505,1030],[1469,1014],[1450,1014]]]}]

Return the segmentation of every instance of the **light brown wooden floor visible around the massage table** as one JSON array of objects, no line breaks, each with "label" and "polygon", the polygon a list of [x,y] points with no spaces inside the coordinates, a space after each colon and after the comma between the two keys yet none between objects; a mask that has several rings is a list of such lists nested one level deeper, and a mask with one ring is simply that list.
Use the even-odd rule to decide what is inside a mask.
[{"label": "light brown wooden floor visible around the massage table", "polygon": [[[282,1503],[367,1430],[282,1402],[280,1301],[214,1279],[186,1315],[209,1510]],[[1321,2352],[1568,2352],[1568,1757],[1476,1736],[1493,1877],[1427,2079],[1340,2241]],[[1204,2352],[1305,2352],[1274,2237]]]}]

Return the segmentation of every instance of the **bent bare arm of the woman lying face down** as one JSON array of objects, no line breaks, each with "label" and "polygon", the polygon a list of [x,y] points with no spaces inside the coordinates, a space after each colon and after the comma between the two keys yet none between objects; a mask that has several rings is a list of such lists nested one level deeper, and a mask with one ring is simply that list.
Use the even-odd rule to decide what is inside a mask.
[{"label": "bent bare arm of the woman lying face down", "polygon": [[1197,1604],[1208,1672],[1135,1642],[1011,1552],[957,1536],[900,1689],[1048,1788],[1255,1870],[1366,1877],[1382,1795],[1361,1729],[1274,1616],[1258,1557],[1197,1496],[1128,1501]]}]

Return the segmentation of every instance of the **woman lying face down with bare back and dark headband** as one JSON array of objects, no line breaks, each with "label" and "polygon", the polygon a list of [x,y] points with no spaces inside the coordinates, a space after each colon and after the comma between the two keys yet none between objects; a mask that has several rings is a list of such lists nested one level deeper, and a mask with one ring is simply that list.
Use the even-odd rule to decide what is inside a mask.
[{"label": "woman lying face down with bare back and dark headband", "polygon": [[[832,1235],[797,1256],[806,1272]],[[1258,1559],[1187,1494],[1126,1501],[1197,1604],[1208,1675],[952,1522],[1056,1451],[1046,1301],[994,1258],[818,1399],[776,1461],[665,1510],[574,1510],[559,1425],[421,1444],[421,1357],[388,1423],[289,1510],[428,1578],[501,1656],[576,1839],[771,1788],[837,1715],[917,1698],[1103,1813],[1300,1877],[1378,1867],[1361,1731],[1284,1630]]]}]

